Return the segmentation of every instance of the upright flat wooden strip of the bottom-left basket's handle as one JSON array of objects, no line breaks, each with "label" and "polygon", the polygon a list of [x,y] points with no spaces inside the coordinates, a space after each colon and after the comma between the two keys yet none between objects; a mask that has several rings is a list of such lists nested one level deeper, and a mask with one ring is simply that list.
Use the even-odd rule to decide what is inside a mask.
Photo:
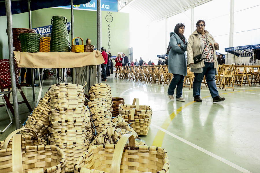
[{"label": "upright flat wooden strip of the bottom-left basket's handle", "polygon": [[13,137],[12,145],[12,171],[23,173],[23,161],[22,161],[22,134],[15,134]]}]

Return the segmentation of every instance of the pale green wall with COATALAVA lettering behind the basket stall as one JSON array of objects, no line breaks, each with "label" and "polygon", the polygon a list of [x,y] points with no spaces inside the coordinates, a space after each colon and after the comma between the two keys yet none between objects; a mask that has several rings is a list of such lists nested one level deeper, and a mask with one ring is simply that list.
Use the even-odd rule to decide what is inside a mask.
[{"label": "pale green wall with COATALAVA lettering behind the basket stall", "polygon": [[[105,17],[107,11],[102,11],[102,46],[108,50],[108,25],[110,24],[110,52],[116,56],[117,52],[129,54],[129,14],[111,12],[113,21],[107,22]],[[66,16],[71,21],[70,9],[45,8],[31,12],[32,28],[51,25],[52,16]],[[13,27],[29,28],[28,13],[12,15]],[[7,29],[6,16],[0,17],[0,58],[8,58],[8,39],[5,29]],[[74,10],[74,37],[81,37],[86,44],[86,39],[91,39],[91,44],[97,44],[96,41],[96,12],[85,10]],[[71,35],[69,35],[71,42]]]}]

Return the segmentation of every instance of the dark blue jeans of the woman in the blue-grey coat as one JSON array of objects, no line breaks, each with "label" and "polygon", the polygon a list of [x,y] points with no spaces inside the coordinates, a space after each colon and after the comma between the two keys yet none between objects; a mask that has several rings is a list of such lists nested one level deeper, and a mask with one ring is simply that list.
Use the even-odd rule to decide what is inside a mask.
[{"label": "dark blue jeans of the woman in the blue-grey coat", "polygon": [[182,88],[183,88],[183,79],[184,76],[179,75],[179,74],[173,74],[173,79],[170,83],[170,86],[168,88],[168,94],[169,95],[173,95],[174,94],[174,90],[176,88],[177,85],[177,89],[176,89],[176,98],[181,97],[182,95]]}]

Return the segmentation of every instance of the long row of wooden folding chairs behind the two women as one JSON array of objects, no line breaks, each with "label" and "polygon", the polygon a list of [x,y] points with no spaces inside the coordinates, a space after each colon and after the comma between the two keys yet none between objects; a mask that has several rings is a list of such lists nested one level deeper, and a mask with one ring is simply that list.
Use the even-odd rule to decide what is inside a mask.
[{"label": "long row of wooden folding chairs behind the two women", "polygon": [[[216,84],[221,89],[232,88],[234,84],[242,87],[242,84],[260,85],[260,66],[246,65],[219,65]],[[146,65],[146,66],[125,66],[116,68],[116,76],[121,79],[170,84],[173,74],[168,72],[168,65]],[[184,77],[183,87],[192,88],[194,73],[187,67],[187,76]],[[205,76],[202,84],[207,86]]]}]

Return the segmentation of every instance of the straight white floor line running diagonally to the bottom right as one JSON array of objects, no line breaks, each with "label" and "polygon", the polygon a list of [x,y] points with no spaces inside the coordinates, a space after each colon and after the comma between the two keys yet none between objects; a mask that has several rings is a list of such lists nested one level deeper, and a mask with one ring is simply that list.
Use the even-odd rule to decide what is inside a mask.
[{"label": "straight white floor line running diagonally to the bottom right", "polygon": [[173,134],[173,133],[171,133],[171,132],[169,132],[169,131],[167,131],[167,130],[165,130],[165,129],[163,129],[163,128],[155,125],[155,124],[153,124],[153,123],[151,123],[151,125],[153,127],[157,128],[157,129],[167,133],[168,135],[172,136],[173,138],[176,138],[176,139],[180,140],[181,142],[184,142],[185,144],[188,144],[188,145],[192,146],[193,148],[196,148],[197,150],[199,150],[199,151],[201,151],[201,152],[203,152],[207,155],[210,155],[211,157],[214,157],[215,159],[218,159],[219,161],[222,161],[223,163],[226,163],[227,165],[229,165],[229,166],[231,166],[231,167],[233,167],[233,168],[235,168],[235,169],[237,169],[237,170],[239,170],[243,173],[252,173],[252,172],[246,170],[245,168],[242,168],[242,167],[236,165],[235,163],[232,163],[231,161],[228,161],[228,160],[226,160],[226,159],[224,159],[224,158],[222,158],[222,157],[220,157],[216,154],[213,154],[210,151],[207,151],[204,148],[201,148],[201,147],[199,147],[199,146],[197,146],[197,145],[195,145],[195,144],[193,144],[193,143],[191,143],[191,142],[189,142],[189,141],[187,141],[187,140],[185,140],[185,139],[183,139],[183,138],[181,138],[181,137],[179,137],[179,136],[177,136],[177,135],[175,135],[175,134]]}]

